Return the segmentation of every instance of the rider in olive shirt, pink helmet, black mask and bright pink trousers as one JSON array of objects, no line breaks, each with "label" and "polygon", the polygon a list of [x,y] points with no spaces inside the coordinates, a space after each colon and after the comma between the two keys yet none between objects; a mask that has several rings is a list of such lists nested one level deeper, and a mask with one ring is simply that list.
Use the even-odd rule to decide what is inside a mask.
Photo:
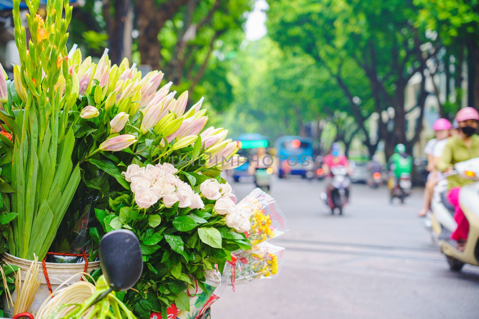
[{"label": "rider in olive shirt, pink helmet, black mask and bright pink trousers", "polygon": [[[476,134],[479,126],[478,111],[470,107],[461,109],[456,114],[456,120],[460,134],[449,139],[437,164],[437,168],[444,173],[452,171],[456,163],[479,157],[479,137]],[[459,206],[459,193],[461,187],[473,182],[458,175],[447,177],[447,198],[455,208],[454,219],[457,222],[456,231],[451,234],[451,239],[457,242],[458,250],[464,250],[469,232],[469,222]]]}]

